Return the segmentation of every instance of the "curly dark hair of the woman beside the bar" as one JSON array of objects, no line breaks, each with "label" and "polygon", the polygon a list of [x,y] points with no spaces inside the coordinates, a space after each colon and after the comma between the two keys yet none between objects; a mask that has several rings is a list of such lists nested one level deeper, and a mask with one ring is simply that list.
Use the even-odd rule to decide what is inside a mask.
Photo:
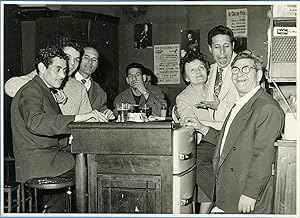
[{"label": "curly dark hair of the woman beside the bar", "polygon": [[180,69],[181,69],[181,75],[185,81],[185,65],[187,63],[190,63],[194,60],[199,60],[201,61],[203,64],[204,64],[204,67],[207,71],[207,75],[209,74],[209,71],[210,71],[210,64],[209,64],[209,61],[207,60],[207,57],[206,55],[202,54],[200,51],[198,50],[190,50],[188,51],[185,56],[183,58],[181,58],[180,60]]}]

